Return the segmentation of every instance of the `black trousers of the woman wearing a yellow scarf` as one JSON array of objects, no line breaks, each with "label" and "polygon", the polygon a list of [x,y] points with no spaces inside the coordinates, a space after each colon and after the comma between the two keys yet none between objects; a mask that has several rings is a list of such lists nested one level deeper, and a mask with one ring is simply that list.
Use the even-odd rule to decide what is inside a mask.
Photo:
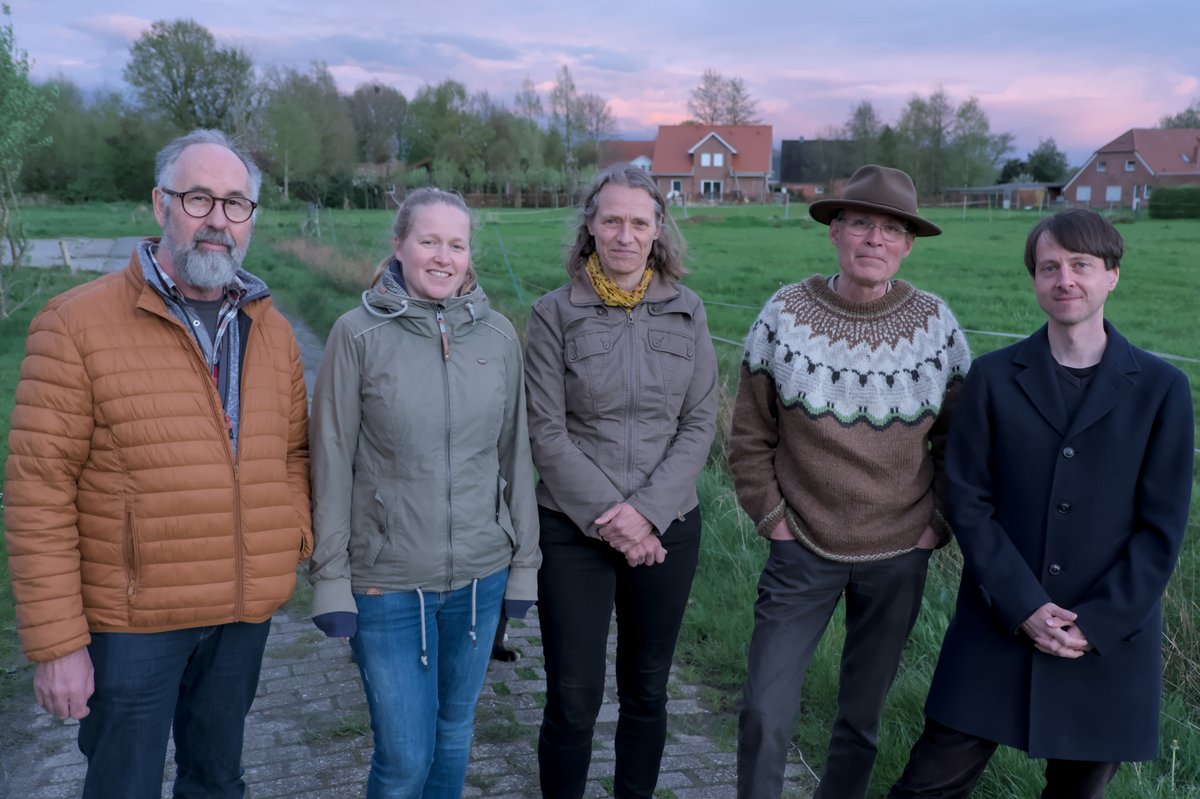
[{"label": "black trousers of the woman wearing a yellow scarf", "polygon": [[624,555],[539,509],[538,615],[546,656],[546,709],[538,737],[541,792],[578,799],[604,701],[608,626],[617,609],[617,799],[653,797],[667,731],[667,677],[700,555],[700,509],[662,535],[666,560],[629,566]]}]

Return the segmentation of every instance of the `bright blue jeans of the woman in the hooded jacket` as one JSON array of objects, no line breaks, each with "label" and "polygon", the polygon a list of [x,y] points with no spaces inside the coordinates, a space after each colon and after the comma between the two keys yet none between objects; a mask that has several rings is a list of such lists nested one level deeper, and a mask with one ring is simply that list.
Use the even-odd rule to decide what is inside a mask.
[{"label": "bright blue jeans of the woman in the hooded jacket", "polygon": [[503,569],[454,591],[354,595],[359,630],[350,647],[374,734],[367,799],[462,795],[508,579]]}]

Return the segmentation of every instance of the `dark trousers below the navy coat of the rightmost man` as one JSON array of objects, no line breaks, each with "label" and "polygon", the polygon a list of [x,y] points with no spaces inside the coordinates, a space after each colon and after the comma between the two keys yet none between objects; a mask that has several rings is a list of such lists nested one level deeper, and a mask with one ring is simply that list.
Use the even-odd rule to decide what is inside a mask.
[{"label": "dark trousers below the navy coat of the rightmost man", "polygon": [[[925,719],[925,731],[908,755],[888,799],[960,799],[970,797],[996,751],[996,743]],[[1042,799],[1102,799],[1120,763],[1046,761]]]}]

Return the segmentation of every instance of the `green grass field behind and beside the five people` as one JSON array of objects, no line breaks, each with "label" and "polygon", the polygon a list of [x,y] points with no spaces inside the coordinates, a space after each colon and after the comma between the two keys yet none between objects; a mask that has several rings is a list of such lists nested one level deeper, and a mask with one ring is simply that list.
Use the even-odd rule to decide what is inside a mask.
[{"label": "green grass field behind and beside the five people", "polygon": [[[689,209],[679,217],[688,240],[686,283],[706,301],[709,324],[719,340],[726,391],[732,392],[740,358],[740,341],[757,310],[780,286],[814,272],[836,270],[828,228],[810,221],[803,206],[742,206]],[[1024,240],[1037,217],[1027,212],[968,212],[934,210],[930,216],[946,229],[936,239],[917,241],[900,277],[946,299],[968,334],[972,352],[982,354],[1010,343],[1043,322],[1022,264]],[[391,215],[383,211],[332,211],[320,218],[320,236],[300,234],[305,215],[265,211],[248,264],[264,277],[287,307],[301,313],[324,334],[338,314],[358,301],[374,264],[390,250]],[[529,304],[564,282],[563,246],[570,234],[568,211],[488,211],[474,241],[480,280],[497,306],[522,326]],[[79,209],[32,209],[35,235],[155,234],[146,209],[131,205]],[[1200,300],[1200,221],[1158,222],[1141,218],[1120,226],[1127,256],[1122,281],[1110,298],[1106,316],[1135,344],[1178,356],[1200,405],[1200,334],[1195,307]],[[305,268],[307,266],[307,269]],[[17,352],[28,318],[0,323],[0,346]],[[13,349],[14,348],[14,349]],[[2,355],[0,355],[2,358]],[[19,358],[19,355],[17,356]],[[0,421],[16,382],[16,360],[4,361]],[[727,408],[726,408],[727,423]],[[766,555],[749,521],[732,498],[728,475],[714,447],[713,462],[701,479],[706,517],[704,552],[679,645],[691,674],[709,686],[708,701],[727,720],[733,734],[733,708],[744,674],[745,647],[751,626],[755,582]],[[1162,756],[1153,763],[1122,769],[1109,795],[1200,795],[1200,491],[1194,492],[1188,541],[1166,596],[1166,693]],[[904,765],[908,745],[919,731],[922,703],[953,611],[959,561],[953,547],[937,554],[931,567],[925,607],[906,650],[901,674],[884,716],[881,757],[876,769],[880,791]],[[5,585],[0,590],[6,590]],[[0,596],[0,627],[5,620]],[[11,611],[7,611],[11,614]],[[840,621],[822,643],[809,671],[805,703],[796,741],[814,769],[820,770],[836,691]],[[4,635],[11,638],[11,635]],[[2,656],[2,650],[0,650]],[[8,661],[6,661],[8,662]],[[2,665],[0,665],[2,666]],[[1172,747],[1172,741],[1178,741]],[[1040,769],[1024,755],[1001,752],[978,797],[1036,795]]]}]

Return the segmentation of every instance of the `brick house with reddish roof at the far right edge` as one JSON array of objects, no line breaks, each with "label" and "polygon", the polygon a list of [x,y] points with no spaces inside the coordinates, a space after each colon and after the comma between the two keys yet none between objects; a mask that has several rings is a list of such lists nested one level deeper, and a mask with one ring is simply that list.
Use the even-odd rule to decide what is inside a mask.
[{"label": "brick house with reddish roof at the far right edge", "polygon": [[1200,186],[1200,128],[1133,128],[1092,154],[1063,188],[1068,204],[1128,208],[1157,186]]}]

